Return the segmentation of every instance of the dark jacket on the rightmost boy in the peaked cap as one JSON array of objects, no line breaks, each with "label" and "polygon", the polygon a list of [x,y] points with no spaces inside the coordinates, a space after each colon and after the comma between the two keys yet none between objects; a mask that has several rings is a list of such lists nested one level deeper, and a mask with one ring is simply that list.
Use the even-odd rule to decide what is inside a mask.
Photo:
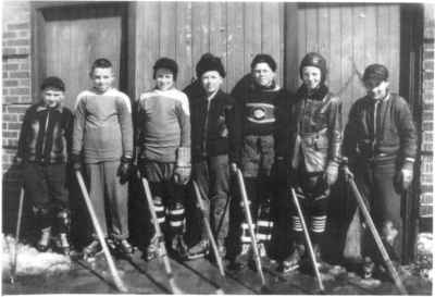
[{"label": "dark jacket on the rightmost boy in the peaked cap", "polygon": [[350,109],[343,150],[350,160],[356,158],[390,158],[403,164],[417,154],[417,132],[407,101],[397,94],[381,102],[377,133],[374,135],[375,100],[365,96]]}]

